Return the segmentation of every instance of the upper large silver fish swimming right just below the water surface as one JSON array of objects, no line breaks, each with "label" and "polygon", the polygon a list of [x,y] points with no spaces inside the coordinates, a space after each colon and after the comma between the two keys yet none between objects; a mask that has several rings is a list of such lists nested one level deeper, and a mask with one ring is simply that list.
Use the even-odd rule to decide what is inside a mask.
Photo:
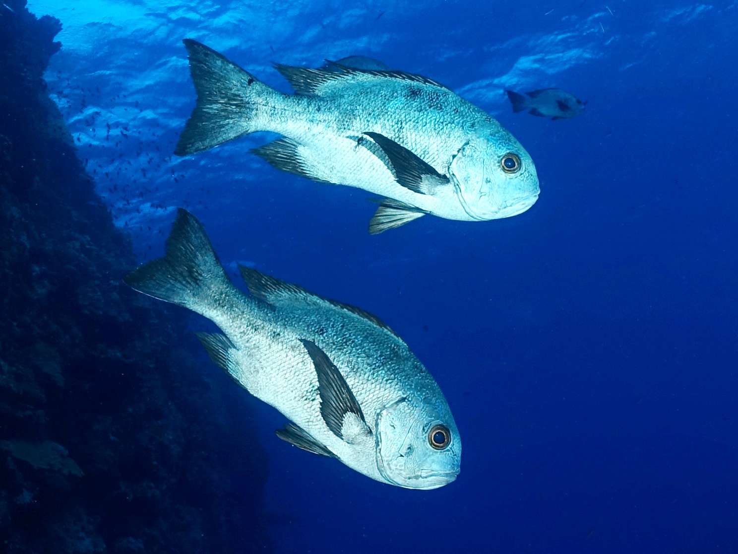
[{"label": "upper large silver fish swimming right just below the water surface", "polygon": [[523,146],[435,81],[339,63],[277,65],[295,92],[284,95],[204,44],[184,44],[198,99],[176,146],[180,156],[255,131],[279,133],[253,153],[283,171],[384,196],[370,233],[426,213],[464,221],[515,216],[538,198]]}]

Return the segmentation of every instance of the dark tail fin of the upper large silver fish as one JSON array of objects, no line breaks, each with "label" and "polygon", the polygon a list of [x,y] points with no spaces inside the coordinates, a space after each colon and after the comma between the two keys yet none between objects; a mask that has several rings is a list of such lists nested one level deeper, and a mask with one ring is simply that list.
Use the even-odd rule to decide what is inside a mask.
[{"label": "dark tail fin of the upper large silver fish", "polygon": [[277,94],[275,89],[212,48],[190,38],[183,42],[190,55],[197,106],[179,136],[174,153],[187,156],[258,131],[254,125],[255,100]]}]

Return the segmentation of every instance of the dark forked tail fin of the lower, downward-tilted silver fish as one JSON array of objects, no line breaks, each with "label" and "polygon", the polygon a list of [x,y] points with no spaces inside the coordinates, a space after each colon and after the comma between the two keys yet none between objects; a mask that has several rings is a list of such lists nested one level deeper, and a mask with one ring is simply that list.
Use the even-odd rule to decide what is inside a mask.
[{"label": "dark forked tail fin of the lower, downward-tilted silver fish", "polygon": [[202,224],[179,208],[167,253],[131,271],[125,284],[159,300],[207,315],[213,298],[233,285],[228,280]]}]

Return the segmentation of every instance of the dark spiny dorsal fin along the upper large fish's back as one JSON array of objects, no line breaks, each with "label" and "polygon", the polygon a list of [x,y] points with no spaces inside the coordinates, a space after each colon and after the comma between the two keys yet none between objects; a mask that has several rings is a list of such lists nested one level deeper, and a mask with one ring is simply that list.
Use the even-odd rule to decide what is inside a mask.
[{"label": "dark spiny dorsal fin along the upper large fish's back", "polygon": [[321,88],[326,83],[342,81],[346,78],[354,78],[361,75],[412,81],[413,83],[422,83],[447,89],[441,83],[432,81],[432,79],[423,77],[422,75],[415,75],[414,73],[396,71],[394,69],[385,71],[379,69],[356,69],[355,67],[349,67],[331,61],[328,61],[327,69],[311,69],[309,67],[294,67],[282,64],[275,64],[275,69],[289,81],[294,92],[298,95],[320,95],[322,92]]}]

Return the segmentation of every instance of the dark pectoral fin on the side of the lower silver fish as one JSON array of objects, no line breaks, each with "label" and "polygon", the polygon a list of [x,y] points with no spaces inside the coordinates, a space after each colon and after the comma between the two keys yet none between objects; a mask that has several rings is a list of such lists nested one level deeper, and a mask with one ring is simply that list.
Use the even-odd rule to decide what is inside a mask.
[{"label": "dark pectoral fin on the side of the lower silver fish", "polygon": [[351,423],[351,434],[356,434],[356,430],[354,429],[356,423],[359,423],[366,431],[369,431],[364,414],[362,413],[362,408],[356,401],[354,393],[348,388],[348,383],[346,383],[338,368],[316,343],[304,339],[300,339],[300,342],[305,346],[315,366],[315,372],[318,376],[318,389],[320,391],[320,415],[323,416],[325,425],[328,425],[328,428],[339,439],[344,439],[343,429],[345,417],[348,414],[354,414],[356,417],[351,417],[346,422]]}]

